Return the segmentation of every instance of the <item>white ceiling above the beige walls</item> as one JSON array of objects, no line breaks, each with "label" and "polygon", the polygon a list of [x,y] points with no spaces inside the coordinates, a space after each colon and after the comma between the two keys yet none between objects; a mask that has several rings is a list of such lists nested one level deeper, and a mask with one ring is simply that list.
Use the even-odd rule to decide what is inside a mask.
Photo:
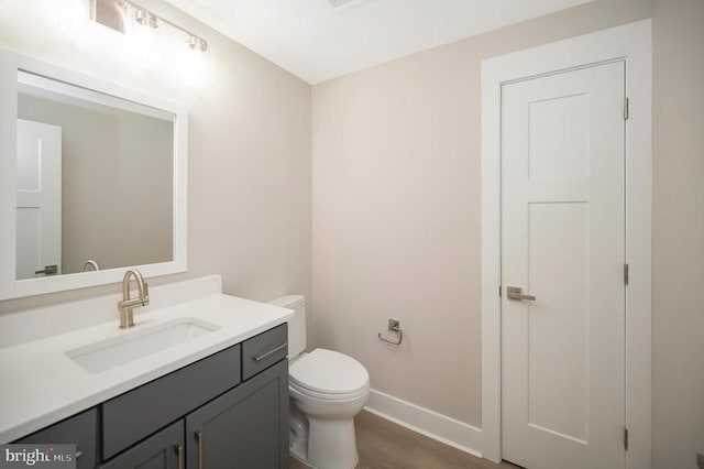
[{"label": "white ceiling above the beige walls", "polygon": [[166,1],[316,84],[591,0]]}]

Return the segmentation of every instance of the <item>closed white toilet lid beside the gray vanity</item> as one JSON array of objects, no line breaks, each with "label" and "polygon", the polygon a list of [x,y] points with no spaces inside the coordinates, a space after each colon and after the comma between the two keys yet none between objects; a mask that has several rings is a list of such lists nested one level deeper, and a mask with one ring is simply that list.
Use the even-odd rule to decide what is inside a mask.
[{"label": "closed white toilet lid beside the gray vanity", "polygon": [[370,381],[362,363],[326,349],[316,349],[292,363],[288,378],[301,388],[326,394],[353,393]]}]

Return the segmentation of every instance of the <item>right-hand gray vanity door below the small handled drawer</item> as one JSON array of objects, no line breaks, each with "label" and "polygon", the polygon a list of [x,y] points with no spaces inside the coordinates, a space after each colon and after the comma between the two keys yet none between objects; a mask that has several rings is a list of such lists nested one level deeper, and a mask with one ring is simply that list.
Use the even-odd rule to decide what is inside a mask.
[{"label": "right-hand gray vanity door below the small handled drawer", "polygon": [[188,469],[288,468],[288,361],[186,416]]}]

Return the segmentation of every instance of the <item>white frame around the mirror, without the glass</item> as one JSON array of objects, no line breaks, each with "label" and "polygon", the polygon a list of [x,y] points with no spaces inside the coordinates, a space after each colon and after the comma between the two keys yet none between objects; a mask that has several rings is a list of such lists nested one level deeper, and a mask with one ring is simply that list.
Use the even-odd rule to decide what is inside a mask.
[{"label": "white frame around the mirror, without the glass", "polygon": [[[29,72],[106,95],[139,102],[175,114],[173,247],[169,262],[15,280],[16,264],[16,120],[18,70]],[[188,113],[185,107],[89,77],[21,54],[0,50],[0,299],[117,283],[128,269],[138,268],[145,277],[186,272]],[[10,253],[9,255],[7,253]]]}]

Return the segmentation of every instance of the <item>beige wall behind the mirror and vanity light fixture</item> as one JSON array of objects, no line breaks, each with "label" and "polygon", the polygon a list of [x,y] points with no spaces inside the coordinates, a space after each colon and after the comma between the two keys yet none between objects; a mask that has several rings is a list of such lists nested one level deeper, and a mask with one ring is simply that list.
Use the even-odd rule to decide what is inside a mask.
[{"label": "beige wall behind the mirror and vanity light fixture", "polygon": [[[141,47],[119,50],[118,33],[86,26],[72,11],[80,3],[0,2],[0,47],[188,108],[188,272],[151,282],[221,273],[229,294],[310,296],[310,86],[164,2],[141,1],[208,41],[202,77],[187,83],[191,70],[168,57],[145,59]],[[157,37],[177,44],[175,54],[188,52],[167,28]],[[0,314],[118,291],[113,284],[4,301]]]}]

